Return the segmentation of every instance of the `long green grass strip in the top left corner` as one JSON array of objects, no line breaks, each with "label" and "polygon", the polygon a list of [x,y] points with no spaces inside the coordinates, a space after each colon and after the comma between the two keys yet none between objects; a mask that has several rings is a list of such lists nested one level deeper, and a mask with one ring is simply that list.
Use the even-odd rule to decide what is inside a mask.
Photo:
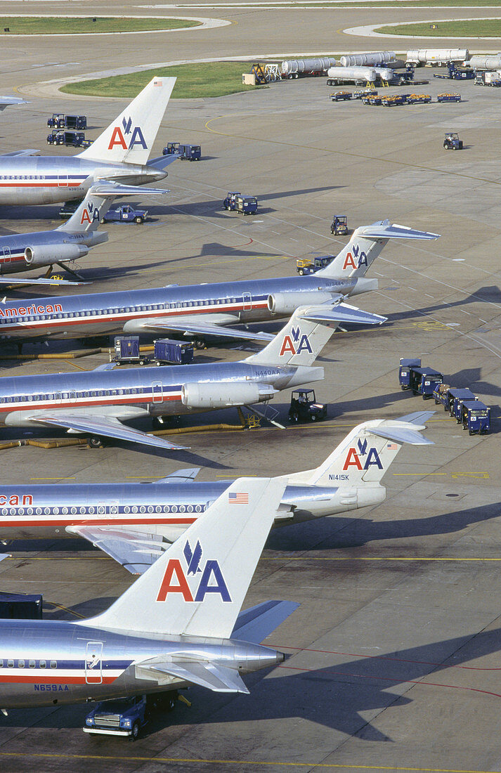
[{"label": "long green grass strip in the top left corner", "polygon": [[[95,19],[95,21],[93,21]],[[111,16],[0,16],[0,35],[57,35],[91,32],[145,32],[154,29],[198,27],[201,22],[191,19],[147,19],[134,16],[114,19]],[[9,29],[9,32],[4,32]]]}]

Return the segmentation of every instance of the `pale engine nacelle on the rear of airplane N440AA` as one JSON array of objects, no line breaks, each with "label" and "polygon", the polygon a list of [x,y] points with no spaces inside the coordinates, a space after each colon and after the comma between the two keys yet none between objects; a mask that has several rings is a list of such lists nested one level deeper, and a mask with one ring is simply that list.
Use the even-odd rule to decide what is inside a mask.
[{"label": "pale engine nacelle on the rear of airplane N440AA", "polygon": [[278,390],[271,384],[254,382],[187,383],[181,387],[181,402],[187,408],[224,408],[271,400]]}]

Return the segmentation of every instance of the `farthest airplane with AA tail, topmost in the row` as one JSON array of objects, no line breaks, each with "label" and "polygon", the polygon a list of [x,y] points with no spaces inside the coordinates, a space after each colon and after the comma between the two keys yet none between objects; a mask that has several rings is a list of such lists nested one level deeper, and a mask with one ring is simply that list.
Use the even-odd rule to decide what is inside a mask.
[{"label": "farthest airplane with AA tail, topmost in the row", "polygon": [[176,78],[155,77],[103,133],[74,156],[0,155],[0,204],[53,204],[82,199],[95,182],[140,186],[167,176],[177,155],[148,162]]}]

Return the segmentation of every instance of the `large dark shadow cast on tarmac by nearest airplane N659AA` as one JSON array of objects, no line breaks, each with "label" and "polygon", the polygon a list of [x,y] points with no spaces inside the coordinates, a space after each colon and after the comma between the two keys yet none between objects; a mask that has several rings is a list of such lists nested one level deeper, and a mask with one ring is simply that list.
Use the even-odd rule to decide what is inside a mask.
[{"label": "large dark shadow cast on tarmac by nearest airplane N659AA", "polygon": [[[391,612],[394,615],[394,611]],[[389,621],[391,625],[391,621]],[[378,715],[385,709],[404,710],[412,699],[389,690],[397,688],[407,692],[413,683],[419,686],[419,696],[425,696],[427,684],[458,689],[458,677],[452,669],[468,669],[465,690],[479,690],[489,696],[496,693],[475,687],[475,667],[468,665],[472,659],[479,659],[499,652],[501,629],[468,633],[455,638],[443,639],[427,645],[386,652],[378,656],[360,657],[343,652],[317,653],[325,666],[302,670],[295,673],[294,661],[288,658],[277,666],[272,679],[264,679],[269,671],[261,671],[245,677],[251,690],[247,696],[211,693],[193,687],[187,693],[191,707],[178,703],[172,713],[155,715],[152,723],[143,730],[144,736],[158,732],[168,726],[230,724],[253,720],[307,720],[312,724],[338,730],[346,736],[360,741],[393,741],[374,727]],[[370,634],[368,634],[368,637]],[[364,643],[376,645],[373,638]],[[267,642],[268,644],[268,642]],[[278,640],[270,646],[287,650],[287,645]],[[280,671],[278,671],[280,669]],[[470,670],[471,669],[471,670]],[[446,673],[447,672],[447,673]],[[281,676],[278,676],[281,673]],[[464,674],[465,672],[462,672]],[[462,676],[464,680],[464,676]],[[456,683],[456,684],[455,684]],[[461,688],[460,688],[461,689]],[[496,688],[494,688],[496,690]],[[82,727],[83,717],[90,709],[87,704],[63,706],[52,709],[11,710],[8,717],[2,717],[2,727]],[[370,720],[366,719],[370,713]],[[404,720],[402,724],[406,727]],[[176,734],[177,737],[177,734]],[[311,730],[310,744],[314,744],[315,730]],[[308,745],[308,741],[306,742]],[[122,740],[98,739],[95,744],[123,748]],[[311,752],[310,752],[311,753]]]}]

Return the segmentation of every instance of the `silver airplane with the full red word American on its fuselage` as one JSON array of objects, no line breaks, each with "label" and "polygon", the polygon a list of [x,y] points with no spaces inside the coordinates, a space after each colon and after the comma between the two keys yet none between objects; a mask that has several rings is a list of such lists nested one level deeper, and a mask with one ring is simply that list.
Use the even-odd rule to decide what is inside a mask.
[{"label": "silver airplane with the full red word American on its fuselage", "polygon": [[[346,295],[377,288],[377,279],[364,276],[391,239],[437,239],[437,233],[391,224],[389,220],[356,228],[336,258],[304,277],[246,279],[185,287],[127,290],[64,298],[43,298],[33,305],[0,303],[0,340],[79,338],[97,334],[165,332],[206,339],[268,342],[264,332],[233,325],[272,322],[303,304],[331,305]],[[40,301],[40,302],[39,302]],[[57,305],[57,308],[56,308]],[[30,311],[31,309],[31,311]]]}]

